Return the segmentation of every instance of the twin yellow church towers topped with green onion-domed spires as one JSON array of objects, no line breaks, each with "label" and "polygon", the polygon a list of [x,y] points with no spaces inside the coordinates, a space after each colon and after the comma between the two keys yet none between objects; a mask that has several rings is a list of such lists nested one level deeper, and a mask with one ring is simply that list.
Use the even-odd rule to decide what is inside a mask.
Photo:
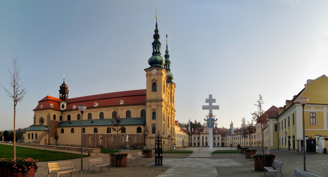
[{"label": "twin yellow church towers topped with green onion-domed spires", "polygon": [[[159,31],[156,25],[152,42],[152,56],[148,59],[149,68],[146,71],[146,124],[149,127],[149,144],[155,143],[159,135],[162,138],[164,148],[173,146],[175,140],[175,109],[173,75],[170,73],[170,60],[167,49],[166,60],[160,55],[161,43]],[[168,64],[166,63],[168,61]],[[169,77],[168,77],[169,76]]]}]

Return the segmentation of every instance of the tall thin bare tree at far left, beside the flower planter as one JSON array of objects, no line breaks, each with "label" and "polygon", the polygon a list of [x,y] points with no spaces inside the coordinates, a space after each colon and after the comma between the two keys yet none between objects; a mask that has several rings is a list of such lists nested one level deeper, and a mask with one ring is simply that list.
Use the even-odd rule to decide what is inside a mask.
[{"label": "tall thin bare tree at far left, beside the flower planter", "polygon": [[11,82],[10,86],[11,89],[8,90],[6,89],[3,85],[1,85],[6,92],[6,95],[10,97],[14,101],[14,137],[13,137],[13,142],[14,142],[14,159],[16,159],[16,105],[19,103],[21,100],[23,100],[25,94],[27,94],[26,87],[23,86],[20,83],[21,77],[19,77],[20,70],[19,70],[19,65],[18,65],[18,60],[17,57],[13,57],[12,65],[13,65],[13,71],[9,70],[9,73],[11,75]]}]

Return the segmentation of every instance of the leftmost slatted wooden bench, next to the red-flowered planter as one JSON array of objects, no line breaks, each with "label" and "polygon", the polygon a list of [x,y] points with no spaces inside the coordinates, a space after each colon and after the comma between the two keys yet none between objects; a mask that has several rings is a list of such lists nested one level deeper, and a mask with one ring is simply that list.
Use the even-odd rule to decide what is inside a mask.
[{"label": "leftmost slatted wooden bench, next to the red-flowered planter", "polygon": [[80,171],[80,177],[81,177],[81,169],[74,169],[72,161],[48,163],[48,168],[49,168],[48,177],[50,173],[56,173],[57,177],[61,173],[68,173],[68,172],[71,172],[72,175],[73,171]]}]

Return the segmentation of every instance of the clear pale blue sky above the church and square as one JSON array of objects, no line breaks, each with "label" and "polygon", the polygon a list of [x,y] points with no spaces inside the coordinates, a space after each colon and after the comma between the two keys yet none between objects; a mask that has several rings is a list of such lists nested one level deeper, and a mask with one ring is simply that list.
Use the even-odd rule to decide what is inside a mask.
[{"label": "clear pale blue sky above the church and square", "polygon": [[[176,83],[175,120],[201,121],[209,94],[219,127],[284,106],[307,79],[328,75],[328,1],[2,1],[0,83],[10,88],[12,58],[28,94],[16,128],[33,124],[45,96],[69,98],[146,89],[156,10]],[[0,130],[13,129],[13,102],[0,92]],[[203,122],[203,121],[202,121]]]}]

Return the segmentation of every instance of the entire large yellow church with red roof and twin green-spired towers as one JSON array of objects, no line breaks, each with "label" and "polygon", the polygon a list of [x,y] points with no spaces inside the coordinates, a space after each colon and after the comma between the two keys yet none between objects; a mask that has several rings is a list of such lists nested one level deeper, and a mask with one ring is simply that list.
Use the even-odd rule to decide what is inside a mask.
[{"label": "entire large yellow church with red roof and twin green-spired towers", "polygon": [[[172,82],[171,61],[166,45],[165,59],[161,57],[161,43],[156,25],[152,42],[152,56],[148,59],[146,89],[68,98],[68,86],[60,85],[59,98],[46,96],[33,109],[33,125],[26,129],[25,143],[56,143],[58,145],[81,145],[83,147],[153,148],[155,138],[160,136],[164,148],[176,141],[175,130],[175,83]],[[78,109],[85,105],[83,114]],[[113,125],[120,118],[119,131]],[[81,129],[83,119],[83,129]],[[184,133],[184,132],[183,132]]]}]

